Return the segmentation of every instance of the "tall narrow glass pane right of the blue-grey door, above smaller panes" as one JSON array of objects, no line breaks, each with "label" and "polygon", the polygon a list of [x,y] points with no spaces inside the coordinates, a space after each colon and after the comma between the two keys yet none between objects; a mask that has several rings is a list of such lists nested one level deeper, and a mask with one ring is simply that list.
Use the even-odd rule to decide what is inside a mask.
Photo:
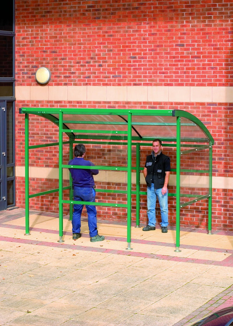
[{"label": "tall narrow glass pane right of the blue-grey door, above smaller panes", "polygon": [[7,102],[7,164],[14,163],[13,102]]}]

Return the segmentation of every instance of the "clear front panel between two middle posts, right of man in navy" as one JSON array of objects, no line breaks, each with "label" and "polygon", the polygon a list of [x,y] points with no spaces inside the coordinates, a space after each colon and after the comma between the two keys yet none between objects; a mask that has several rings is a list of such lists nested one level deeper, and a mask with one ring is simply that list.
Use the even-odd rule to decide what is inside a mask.
[{"label": "clear front panel between two middle posts, right of man in navy", "polygon": [[[75,139],[73,147],[83,143],[86,148],[85,160],[98,167],[99,173],[93,175],[96,185],[96,201],[103,203],[127,204],[127,142],[95,139]],[[110,168],[110,169],[109,169]],[[114,206],[98,208],[98,211],[114,215]],[[119,210],[119,207],[118,207]],[[109,218],[111,216],[109,215]]]}]

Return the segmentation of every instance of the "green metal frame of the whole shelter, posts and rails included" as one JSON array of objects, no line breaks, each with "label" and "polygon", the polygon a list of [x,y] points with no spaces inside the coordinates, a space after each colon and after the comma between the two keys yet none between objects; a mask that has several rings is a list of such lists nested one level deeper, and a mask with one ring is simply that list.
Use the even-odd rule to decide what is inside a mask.
[{"label": "green metal frame of the whole shelter, posts and rails included", "polygon": [[[193,114],[182,111],[182,110],[145,110],[145,109],[90,109],[90,108],[20,108],[20,113],[25,115],[25,228],[26,233],[29,235],[29,199],[36,196],[42,196],[46,194],[50,194],[53,192],[58,191],[59,192],[59,240],[58,242],[63,242],[63,203],[70,204],[70,218],[72,215],[72,205],[75,203],[82,203],[86,204],[85,202],[77,202],[73,200],[73,193],[72,193],[72,187],[63,187],[63,169],[68,168],[68,165],[63,165],[62,162],[62,155],[63,155],[63,144],[69,143],[70,145],[70,159],[73,157],[73,144],[79,141],[79,139],[82,139],[83,143],[91,142],[93,143],[107,143],[104,142],[104,140],[111,140],[111,144],[119,144],[119,142],[124,141],[124,144],[127,145],[127,166],[126,167],[106,167],[106,166],[96,166],[96,169],[101,170],[125,170],[127,171],[127,190],[125,193],[127,194],[127,204],[113,204],[113,203],[94,203],[97,206],[114,206],[114,207],[127,207],[127,242],[128,242],[128,248],[127,250],[131,250],[131,200],[132,200],[132,194],[136,193],[136,227],[139,227],[139,211],[140,211],[140,194],[146,194],[146,192],[140,191],[140,146],[141,145],[148,145],[151,146],[151,143],[147,143],[148,141],[152,141],[155,137],[154,135],[151,135],[148,133],[148,135],[141,135],[140,127],[141,126],[170,126],[170,127],[176,127],[176,135],[175,136],[169,136],[169,137],[159,137],[162,141],[172,141],[176,142],[175,144],[166,144],[166,146],[173,146],[177,148],[177,168],[172,169],[173,171],[176,171],[176,252],[179,252],[179,246],[180,246],[180,209],[187,205],[191,205],[192,203],[203,200],[208,198],[208,230],[209,234],[211,234],[211,211],[212,211],[212,145],[214,144],[213,137],[211,136],[209,130],[207,127]],[[52,123],[54,123],[56,126],[58,126],[58,135],[59,135],[59,141],[49,144],[41,144],[41,145],[32,145],[29,146],[29,115],[37,115],[40,117],[43,117],[45,119],[50,120]],[[64,115],[71,115],[72,117],[75,116],[75,120],[65,120]],[[92,118],[85,121],[79,120],[79,116],[91,116]],[[98,121],[93,119],[93,117],[98,116],[116,116],[118,121]],[[140,116],[141,118],[145,117],[165,117],[164,121],[162,122],[150,122],[150,121],[132,121],[133,117]],[[174,117],[175,120],[172,122],[166,122],[166,117]],[[170,119],[170,118],[168,118]],[[185,123],[182,123],[182,119],[186,119]],[[96,130],[93,129],[74,129],[70,128],[69,124],[91,124],[91,125],[116,125],[116,126],[125,126],[124,130]],[[182,124],[184,126],[194,126],[198,127],[201,131],[201,134],[203,137],[183,137],[181,134],[181,127]],[[93,126],[92,126],[93,128]],[[192,132],[192,128],[190,128]],[[132,132],[134,135],[132,135]],[[145,132],[145,129],[144,129]],[[63,133],[65,133],[69,137],[69,141],[63,141]],[[93,133],[96,133],[97,135],[93,135]],[[107,134],[107,135],[106,135]],[[182,136],[182,137],[181,137]],[[101,141],[100,141],[101,140]],[[139,143],[143,141],[143,143]],[[191,147],[191,149],[188,149],[187,151],[183,150],[181,151],[181,142],[185,142],[188,144],[182,145],[182,147]],[[203,144],[193,144],[195,143],[206,143],[206,145]],[[189,144],[190,143],[190,144]],[[121,143],[122,144],[122,143]],[[29,150],[32,148],[40,148],[40,147],[48,147],[48,146],[59,146],[59,188],[48,190],[44,192],[40,192],[37,194],[32,194],[29,196]],[[136,146],[136,166],[132,167],[131,163],[131,156],[132,156],[132,146]],[[193,149],[192,149],[193,147]],[[203,170],[191,170],[191,169],[180,169],[180,156],[185,155],[187,153],[190,153],[192,151],[199,151],[203,149],[209,149],[209,170],[203,171]],[[82,168],[82,167],[75,167],[75,168]],[[93,168],[93,167],[92,167]],[[131,186],[131,171],[136,170],[136,191],[132,191]],[[209,175],[209,193],[207,195],[201,196],[196,195],[195,199],[189,200],[187,202],[181,203],[180,202],[180,172],[204,172],[208,173]],[[70,185],[72,183],[71,177],[70,177]],[[70,200],[63,200],[62,198],[62,190],[64,189],[70,189]],[[101,189],[99,191],[104,192],[104,189]],[[109,192],[109,190],[106,190],[106,192]],[[113,191],[117,192],[117,190]],[[122,191],[120,191],[122,192]],[[172,196],[173,194],[169,194],[169,196]],[[182,195],[182,197],[194,197],[193,195]],[[88,202],[88,204],[90,204]]]}]

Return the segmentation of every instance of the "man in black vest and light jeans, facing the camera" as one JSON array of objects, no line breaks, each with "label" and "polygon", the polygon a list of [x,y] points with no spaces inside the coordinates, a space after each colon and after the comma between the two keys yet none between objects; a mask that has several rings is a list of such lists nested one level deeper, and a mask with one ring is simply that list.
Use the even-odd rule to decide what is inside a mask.
[{"label": "man in black vest and light jeans, facing the camera", "polygon": [[152,153],[147,156],[143,170],[147,183],[147,215],[148,225],[143,231],[155,230],[155,204],[158,197],[161,219],[160,223],[163,233],[167,233],[168,225],[168,181],[170,177],[171,165],[170,157],[162,153],[162,142],[160,139],[152,141]]}]

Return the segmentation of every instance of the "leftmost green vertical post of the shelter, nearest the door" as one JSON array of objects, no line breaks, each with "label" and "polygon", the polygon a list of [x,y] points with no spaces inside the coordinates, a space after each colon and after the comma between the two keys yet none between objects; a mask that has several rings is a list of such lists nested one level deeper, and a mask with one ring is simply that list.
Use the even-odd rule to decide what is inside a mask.
[{"label": "leftmost green vertical post of the shelter, nearest the door", "polygon": [[29,230],[29,115],[25,114],[25,234]]}]

